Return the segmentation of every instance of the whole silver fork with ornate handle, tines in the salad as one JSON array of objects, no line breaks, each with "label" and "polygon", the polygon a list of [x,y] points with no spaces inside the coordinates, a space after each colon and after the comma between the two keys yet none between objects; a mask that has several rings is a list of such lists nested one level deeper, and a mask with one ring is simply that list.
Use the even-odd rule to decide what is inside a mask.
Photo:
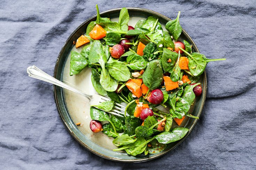
[{"label": "whole silver fork with ornate handle, tines in the salad", "polygon": [[[40,70],[36,66],[28,67],[27,73],[29,74],[29,77],[37,78],[39,80],[43,80],[45,82],[52,83],[54,85],[60,86],[62,88],[65,88],[65,89],[75,92],[77,94],[80,94],[80,95],[86,97],[89,100],[91,105],[96,105],[101,102],[110,100],[107,97],[101,96],[99,94],[93,94],[93,95],[85,94],[85,93],[61,82],[60,80],[57,80],[56,78],[46,74],[44,71]],[[124,109],[125,109],[125,107],[123,105],[115,103],[114,108],[111,111],[108,111],[108,113],[123,117],[120,114],[124,114],[124,111],[125,111]]]}]

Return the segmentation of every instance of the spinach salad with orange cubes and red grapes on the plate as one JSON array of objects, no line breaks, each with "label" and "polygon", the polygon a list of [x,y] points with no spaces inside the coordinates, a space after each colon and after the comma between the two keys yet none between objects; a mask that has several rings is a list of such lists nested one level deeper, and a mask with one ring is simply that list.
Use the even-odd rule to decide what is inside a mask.
[{"label": "spinach salad with orange cubes and red grapes on the plate", "polygon": [[[91,105],[90,128],[113,137],[118,147],[114,151],[133,156],[161,152],[188,133],[180,126],[185,117],[198,119],[188,110],[202,93],[199,80],[207,63],[225,59],[208,59],[193,52],[189,42],[179,41],[180,12],[164,31],[154,16],[129,26],[126,8],[118,22],[101,18],[96,9],[96,20],[74,42],[82,51],[72,51],[70,60],[70,76],[90,67],[93,87],[111,99]],[[124,117],[107,113],[115,102],[127,104]],[[158,110],[158,105],[169,112]],[[172,128],[173,123],[178,126]]]}]

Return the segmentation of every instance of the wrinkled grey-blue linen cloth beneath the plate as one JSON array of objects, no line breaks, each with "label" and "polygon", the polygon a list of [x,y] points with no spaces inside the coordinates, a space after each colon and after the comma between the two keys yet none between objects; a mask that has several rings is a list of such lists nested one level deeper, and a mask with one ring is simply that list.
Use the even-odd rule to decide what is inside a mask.
[{"label": "wrinkled grey-blue linen cloth beneath the plate", "polygon": [[[208,92],[192,133],[167,155],[117,163],[80,146],[56,110],[51,84],[29,78],[36,65],[53,75],[69,35],[100,11],[141,7],[180,23],[209,58]],[[254,0],[0,1],[0,169],[255,169],[256,3]]]}]

